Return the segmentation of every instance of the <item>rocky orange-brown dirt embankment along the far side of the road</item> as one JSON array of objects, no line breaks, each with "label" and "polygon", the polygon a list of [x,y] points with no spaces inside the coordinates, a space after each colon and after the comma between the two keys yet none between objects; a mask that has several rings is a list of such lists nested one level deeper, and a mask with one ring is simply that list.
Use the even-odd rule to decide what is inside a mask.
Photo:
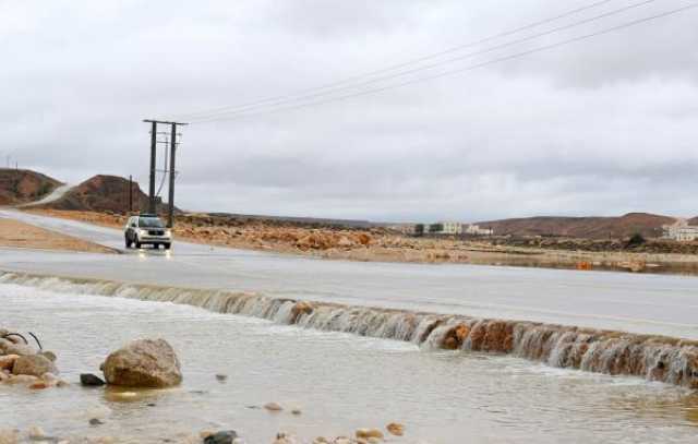
[{"label": "rocky orange-brown dirt embankment along the far side of the road", "polygon": [[[95,212],[32,212],[120,229],[127,220],[123,215]],[[411,238],[382,228],[357,229],[204,214],[179,215],[174,237],[176,240],[209,245],[352,261],[698,274],[697,254],[555,250],[535,244],[505,245],[477,240]]]}]

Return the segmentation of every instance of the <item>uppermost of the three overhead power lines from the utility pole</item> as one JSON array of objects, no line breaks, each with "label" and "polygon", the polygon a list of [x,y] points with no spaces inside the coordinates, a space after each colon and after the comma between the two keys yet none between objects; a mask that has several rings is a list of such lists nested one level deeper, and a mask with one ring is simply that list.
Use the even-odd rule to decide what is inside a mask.
[{"label": "uppermost of the three overhead power lines from the utility pole", "polygon": [[297,95],[300,95],[300,94],[305,94],[305,93],[310,93],[310,92],[314,92],[314,91],[322,91],[322,89],[333,88],[333,87],[345,85],[347,83],[351,83],[353,81],[361,80],[361,79],[364,79],[364,77],[368,77],[368,76],[372,76],[372,75],[376,75],[376,74],[383,74],[383,73],[386,73],[386,72],[395,71],[397,69],[401,69],[401,68],[406,68],[406,67],[409,67],[409,65],[412,65],[412,64],[416,64],[416,63],[421,63],[421,62],[424,62],[424,61],[428,61],[428,60],[436,59],[436,58],[438,58],[441,56],[453,53],[453,52],[456,52],[456,51],[459,51],[459,50],[462,50],[462,49],[476,47],[476,46],[479,46],[479,45],[482,45],[482,44],[486,44],[489,41],[493,41],[493,40],[496,40],[496,39],[500,39],[500,38],[503,38],[503,37],[508,37],[508,36],[521,33],[524,31],[532,29],[532,28],[535,28],[538,26],[545,25],[547,23],[556,22],[558,20],[566,19],[568,16],[573,16],[573,15],[579,14],[581,12],[585,12],[585,11],[588,11],[588,10],[591,10],[591,9],[594,9],[594,8],[599,8],[601,5],[604,5],[606,3],[611,3],[613,1],[616,1],[616,0],[597,1],[597,2],[593,2],[591,4],[587,4],[585,7],[580,7],[580,8],[574,9],[571,11],[564,12],[562,14],[555,15],[555,16],[550,17],[550,19],[544,19],[544,20],[541,20],[541,21],[538,21],[538,22],[534,22],[534,23],[531,23],[531,24],[528,24],[528,25],[525,25],[525,26],[517,27],[517,28],[512,29],[512,31],[502,32],[502,33],[495,34],[495,35],[490,36],[490,37],[481,38],[479,40],[470,41],[470,43],[467,43],[467,44],[464,44],[464,45],[458,45],[458,46],[442,50],[440,52],[435,52],[435,53],[432,53],[432,55],[418,57],[418,58],[410,59],[408,61],[405,61],[405,62],[401,62],[401,63],[397,63],[397,64],[394,64],[394,65],[389,65],[389,67],[386,67],[386,68],[383,68],[383,69],[369,71],[369,72],[365,72],[363,74],[352,75],[352,76],[349,76],[349,77],[346,77],[344,80],[339,80],[339,81],[336,81],[336,82],[332,82],[332,83],[327,83],[327,84],[324,84],[324,85],[314,86],[314,87],[310,87],[310,88],[299,89],[299,91],[297,91],[296,93],[292,93],[292,94],[263,98],[263,99],[260,99],[260,100],[254,100],[254,101],[250,101],[250,103],[245,103],[245,104],[229,105],[229,106],[222,106],[222,107],[213,108],[213,109],[208,109],[208,110],[201,110],[201,111],[195,111],[195,112],[190,112],[190,113],[184,113],[184,115],[177,115],[177,117],[178,118],[184,118],[184,119],[203,118],[206,115],[218,113],[218,112],[221,112],[221,111],[232,111],[232,110],[238,110],[240,108],[253,108],[253,107],[257,107],[257,106],[263,105],[263,104],[267,104],[269,101],[277,101],[277,100],[281,100],[281,99],[287,99],[289,97],[293,97],[293,96],[297,96]]}]

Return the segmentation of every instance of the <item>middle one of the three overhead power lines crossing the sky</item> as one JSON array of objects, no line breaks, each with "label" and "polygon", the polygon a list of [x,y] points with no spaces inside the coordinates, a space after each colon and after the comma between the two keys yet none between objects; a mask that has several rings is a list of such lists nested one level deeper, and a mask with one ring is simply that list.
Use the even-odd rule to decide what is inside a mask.
[{"label": "middle one of the three overhead power lines crossing the sky", "polygon": [[406,70],[406,71],[400,71],[400,72],[397,72],[397,73],[394,73],[394,74],[378,76],[378,77],[375,77],[375,79],[372,79],[372,80],[368,80],[368,81],[364,81],[364,82],[361,82],[361,83],[358,83],[358,84],[348,85],[348,86],[340,86],[340,87],[334,87],[334,88],[330,88],[328,91],[324,91],[324,92],[320,92],[320,93],[301,95],[301,96],[290,97],[290,98],[286,98],[286,99],[275,100],[275,101],[272,101],[272,103],[269,103],[267,105],[260,104],[257,106],[250,106],[250,107],[246,107],[246,108],[243,108],[243,109],[239,109],[239,110],[230,110],[230,111],[226,111],[226,112],[212,112],[208,116],[201,116],[198,118],[193,118],[192,120],[193,121],[196,121],[196,120],[208,120],[208,119],[215,118],[215,117],[232,116],[232,115],[238,115],[238,113],[246,113],[252,108],[275,107],[275,106],[278,106],[278,105],[285,105],[285,104],[289,104],[289,103],[293,103],[293,101],[300,101],[300,100],[310,99],[310,98],[323,97],[323,96],[332,95],[332,94],[335,94],[335,93],[338,93],[338,92],[342,92],[342,91],[350,91],[350,89],[354,89],[354,88],[358,88],[358,87],[361,87],[361,86],[372,85],[372,84],[375,84],[375,83],[385,82],[387,80],[397,79],[397,77],[414,74],[414,73],[422,72],[422,71],[433,70],[435,68],[440,68],[440,67],[445,65],[445,64],[462,61],[462,60],[466,60],[466,59],[469,59],[469,58],[473,58],[473,57],[477,57],[477,56],[483,56],[483,55],[486,55],[486,53],[490,53],[490,52],[497,51],[500,49],[504,49],[504,48],[508,48],[508,47],[512,47],[512,46],[520,45],[520,44],[524,44],[524,43],[527,43],[527,41],[532,41],[532,40],[535,40],[535,39],[538,39],[540,37],[553,35],[553,34],[559,33],[562,31],[568,31],[568,29],[571,29],[571,28],[575,28],[575,27],[578,27],[578,26],[582,26],[582,25],[592,23],[592,22],[597,22],[597,21],[600,21],[600,20],[603,20],[603,19],[607,19],[610,16],[617,15],[617,14],[627,12],[627,11],[633,10],[633,9],[645,7],[647,4],[653,3],[654,1],[657,1],[657,0],[643,0],[643,1],[640,1],[638,3],[626,5],[624,8],[619,8],[619,9],[616,9],[616,10],[613,10],[613,11],[610,11],[610,12],[606,12],[606,13],[603,13],[603,14],[600,14],[600,15],[595,15],[595,16],[592,16],[592,17],[589,17],[589,19],[585,19],[585,20],[575,22],[575,23],[570,23],[568,25],[558,26],[558,27],[555,27],[553,29],[549,29],[549,31],[545,31],[545,32],[533,34],[533,35],[527,36],[525,38],[520,38],[520,39],[513,40],[513,41],[507,41],[507,43],[504,43],[504,44],[501,44],[501,45],[496,45],[496,46],[493,46],[493,47],[490,47],[490,48],[485,48],[485,49],[482,49],[482,50],[468,52],[466,55],[461,55],[461,56],[458,56],[458,57],[455,57],[455,58],[442,60],[442,61],[438,61],[438,62],[435,62],[435,63],[431,63],[431,64],[428,64],[428,65],[423,65],[423,67],[419,67],[419,68],[412,68],[412,69]]}]

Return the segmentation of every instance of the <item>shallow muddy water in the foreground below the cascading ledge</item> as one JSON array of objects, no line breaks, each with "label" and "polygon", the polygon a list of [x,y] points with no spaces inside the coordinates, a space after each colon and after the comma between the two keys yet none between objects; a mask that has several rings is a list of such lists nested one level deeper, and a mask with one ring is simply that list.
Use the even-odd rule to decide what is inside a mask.
[{"label": "shallow muddy water in the foreground below the cascading ledge", "polygon": [[[178,350],[181,387],[0,388],[0,427],[49,434],[181,440],[236,429],[250,443],[280,431],[349,434],[407,425],[400,442],[695,442],[698,398],[639,379],[554,369],[513,357],[423,351],[412,344],[306,331],[204,310],[0,285],[2,323],[39,333],[71,382],[109,350],[161,336]],[[221,383],[216,373],[225,373]],[[267,401],[303,415],[250,408]],[[92,418],[104,421],[89,425]]]}]

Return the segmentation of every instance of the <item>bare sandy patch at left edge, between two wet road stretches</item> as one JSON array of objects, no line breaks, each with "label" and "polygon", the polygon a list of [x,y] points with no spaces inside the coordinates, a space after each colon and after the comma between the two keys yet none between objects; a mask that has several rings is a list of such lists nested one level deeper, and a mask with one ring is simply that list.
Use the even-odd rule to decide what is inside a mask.
[{"label": "bare sandy patch at left edge, between two wet road stretches", "polygon": [[113,253],[95,243],[4,218],[0,218],[0,247]]}]

